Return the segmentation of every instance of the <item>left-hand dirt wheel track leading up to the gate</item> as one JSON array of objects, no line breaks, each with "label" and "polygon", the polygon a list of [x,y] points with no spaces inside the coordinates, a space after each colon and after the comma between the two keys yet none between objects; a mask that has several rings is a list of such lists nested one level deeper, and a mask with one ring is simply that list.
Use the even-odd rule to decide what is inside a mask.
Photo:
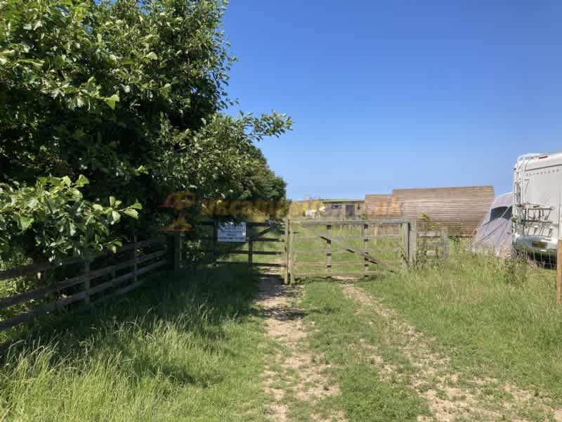
[{"label": "left-hand dirt wheel track leading up to the gate", "polygon": [[[303,311],[292,305],[301,288],[282,283],[277,276],[262,276],[257,302],[266,316],[268,336],[282,346],[282,352],[266,365],[262,381],[271,398],[270,413],[273,421],[288,421],[290,400],[306,402],[312,408],[320,400],[339,395],[339,385],[330,383],[326,372],[329,365],[322,357],[314,357],[307,349],[303,328]],[[315,421],[322,421],[320,416]],[[329,418],[345,421],[343,414]]]}]

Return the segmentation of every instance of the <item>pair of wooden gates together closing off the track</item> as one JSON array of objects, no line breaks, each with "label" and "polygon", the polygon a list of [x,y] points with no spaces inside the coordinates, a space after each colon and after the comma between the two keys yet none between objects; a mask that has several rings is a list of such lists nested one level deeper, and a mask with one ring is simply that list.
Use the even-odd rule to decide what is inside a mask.
[{"label": "pair of wooden gates together closing off the track", "polygon": [[244,241],[221,243],[220,222],[209,220],[197,236],[207,264],[282,268],[286,283],[303,277],[367,276],[414,263],[414,219],[246,222]]}]

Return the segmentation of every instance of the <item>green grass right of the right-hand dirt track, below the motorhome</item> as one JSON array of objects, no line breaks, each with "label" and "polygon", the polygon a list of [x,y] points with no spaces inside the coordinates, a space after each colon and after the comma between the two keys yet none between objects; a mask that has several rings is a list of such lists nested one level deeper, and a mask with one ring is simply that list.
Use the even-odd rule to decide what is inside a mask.
[{"label": "green grass right of the right-hand dirt track, below the motorhome", "polygon": [[362,281],[458,371],[550,395],[562,405],[562,308],[554,271],[452,250],[449,262]]}]

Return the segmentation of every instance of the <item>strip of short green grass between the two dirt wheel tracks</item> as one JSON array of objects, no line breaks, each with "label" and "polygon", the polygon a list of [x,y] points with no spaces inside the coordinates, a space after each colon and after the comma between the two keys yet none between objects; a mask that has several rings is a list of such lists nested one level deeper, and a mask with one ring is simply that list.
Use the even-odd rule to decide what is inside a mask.
[{"label": "strip of short green grass between the two dirt wheel tracks", "polygon": [[[331,376],[339,383],[336,397],[348,421],[416,421],[429,415],[424,399],[407,384],[407,378],[386,379],[365,345],[379,345],[385,359],[407,366],[396,348],[386,345],[384,321],[358,312],[333,281],[306,283],[303,302],[311,348],[332,366]],[[405,370],[405,369],[402,369]]]}]

